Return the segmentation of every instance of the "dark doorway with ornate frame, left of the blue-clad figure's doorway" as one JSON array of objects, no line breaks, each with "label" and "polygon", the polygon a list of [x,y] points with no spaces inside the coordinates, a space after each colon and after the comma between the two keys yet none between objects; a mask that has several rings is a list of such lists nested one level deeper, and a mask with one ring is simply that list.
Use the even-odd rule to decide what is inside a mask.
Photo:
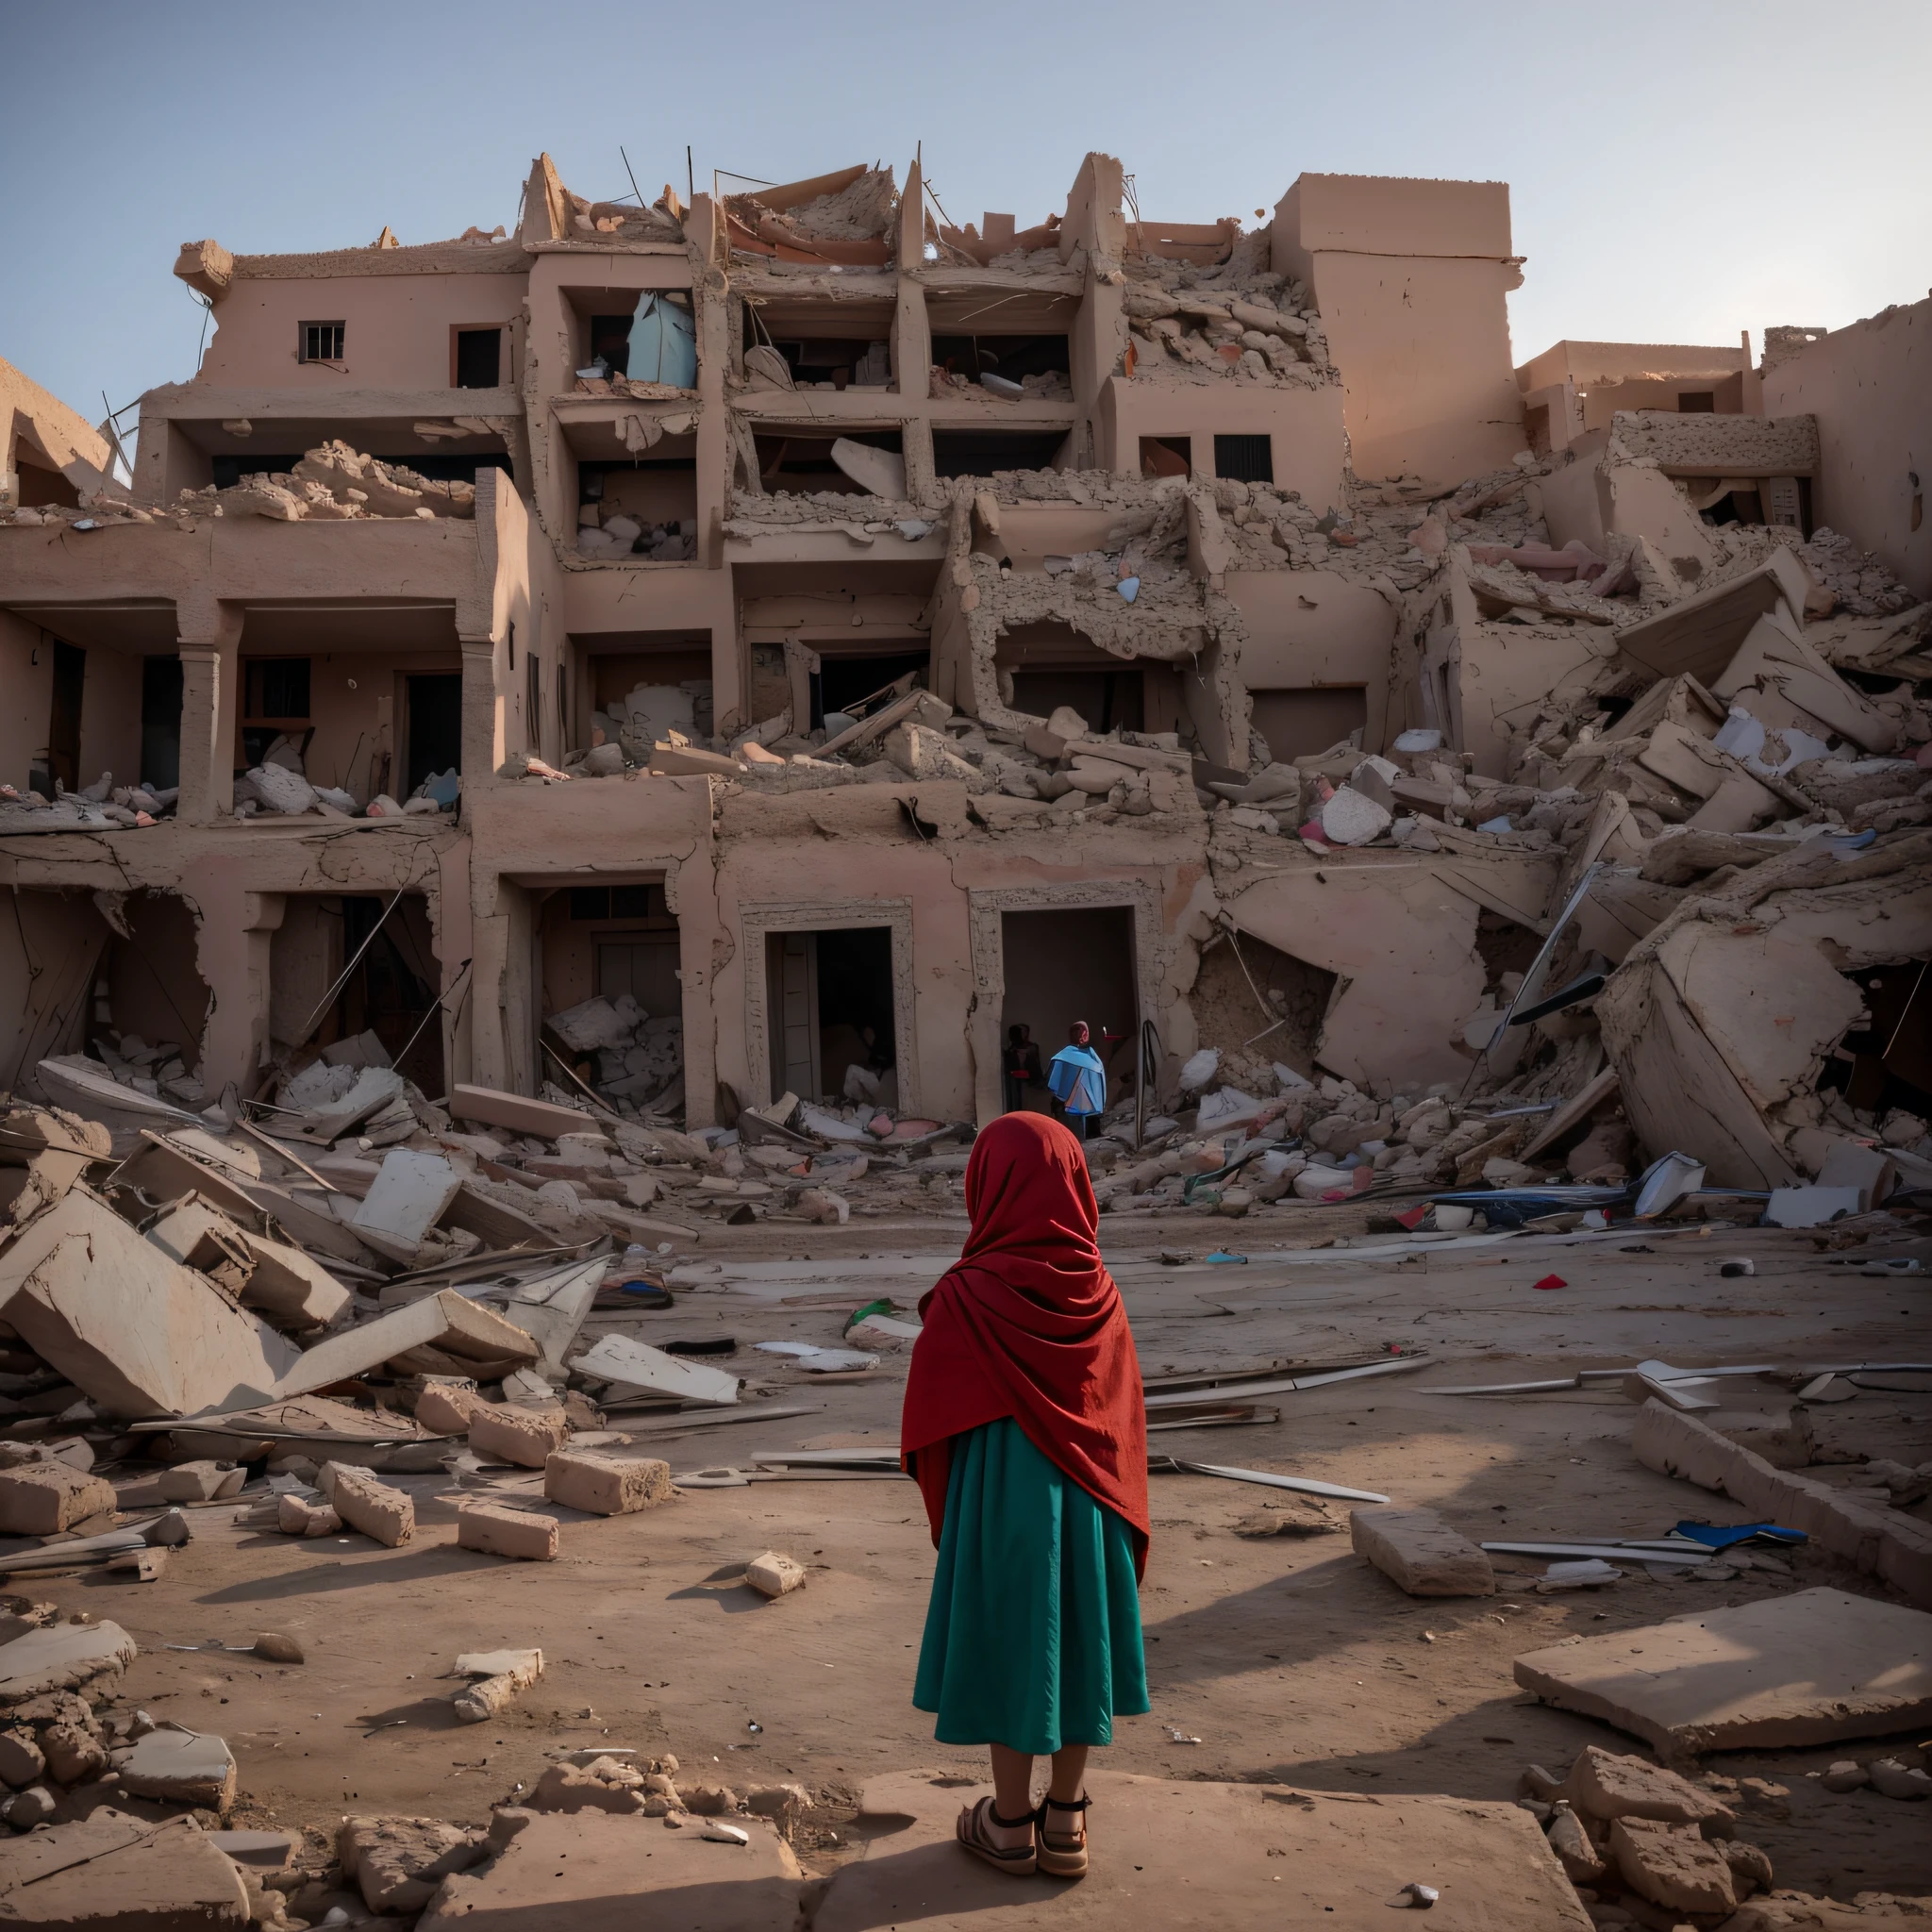
[{"label": "dark doorway with ornate frame, left of the blue-clad figure's doorway", "polygon": [[765,987],[775,1095],[840,1099],[858,1066],[869,1076],[858,1082],[866,1097],[896,1105],[889,925],[767,933]]}]

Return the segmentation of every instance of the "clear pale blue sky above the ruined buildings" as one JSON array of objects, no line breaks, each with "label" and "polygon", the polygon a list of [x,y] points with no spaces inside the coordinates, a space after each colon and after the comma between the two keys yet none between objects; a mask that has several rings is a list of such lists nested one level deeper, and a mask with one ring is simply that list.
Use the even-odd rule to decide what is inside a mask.
[{"label": "clear pale blue sky above the ruined buildings", "polygon": [[796,180],[923,141],[954,220],[1037,222],[1088,149],[1148,216],[1252,218],[1302,170],[1511,184],[1517,359],[1754,346],[1932,284],[1932,4],[301,6],[0,0],[0,355],[99,419],[195,367],[178,243],[431,242],[593,199]]}]

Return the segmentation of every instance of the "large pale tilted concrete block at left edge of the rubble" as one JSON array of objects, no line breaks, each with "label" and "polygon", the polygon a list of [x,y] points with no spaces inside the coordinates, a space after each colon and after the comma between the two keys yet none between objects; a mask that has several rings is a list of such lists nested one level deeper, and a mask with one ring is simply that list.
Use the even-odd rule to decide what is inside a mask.
[{"label": "large pale tilted concrete block at left edge of the rubble", "polygon": [[263,1401],[299,1358],[83,1186],[0,1254],[0,1310],[97,1408],[133,1420]]}]

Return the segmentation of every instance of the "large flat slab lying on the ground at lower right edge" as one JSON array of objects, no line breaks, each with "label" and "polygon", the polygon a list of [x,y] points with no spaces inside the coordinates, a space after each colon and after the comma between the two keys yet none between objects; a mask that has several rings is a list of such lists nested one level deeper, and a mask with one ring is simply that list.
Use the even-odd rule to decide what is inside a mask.
[{"label": "large flat slab lying on the ground at lower right edge", "polygon": [[1667,1756],[1826,1745],[1932,1723],[1932,1617],[1799,1590],[1532,1650],[1515,1673]]}]

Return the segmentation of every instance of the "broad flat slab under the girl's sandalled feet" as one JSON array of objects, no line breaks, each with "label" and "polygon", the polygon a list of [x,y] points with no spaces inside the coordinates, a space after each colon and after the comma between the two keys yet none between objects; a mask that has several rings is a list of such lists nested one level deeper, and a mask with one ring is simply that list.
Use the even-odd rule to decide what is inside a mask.
[{"label": "broad flat slab under the girl's sandalled feet", "polygon": [[[1356,1797],[1287,1785],[1169,1783],[1090,1772],[1094,1866],[1078,1884],[1009,1878],[952,1843],[962,1804],[987,1795],[929,1772],[866,1785],[877,1835],[833,1880],[813,1932],[1163,1932],[1323,1926],[1383,1932],[1403,1886],[1441,1891],[1435,1922],[1486,1932],[1586,1932],[1590,1918],[1548,1839],[1515,1804]],[[896,1826],[896,1830],[895,1830]],[[423,1920],[421,1932],[429,1932]]]}]

